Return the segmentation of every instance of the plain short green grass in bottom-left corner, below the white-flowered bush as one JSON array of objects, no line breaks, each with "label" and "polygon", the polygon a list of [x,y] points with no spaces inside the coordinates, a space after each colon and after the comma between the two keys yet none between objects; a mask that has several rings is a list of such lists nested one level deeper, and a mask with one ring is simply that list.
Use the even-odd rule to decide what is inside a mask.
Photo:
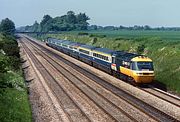
[{"label": "plain short green grass in bottom-left corner, below the white-flowered bush", "polygon": [[[1,89],[2,90],[2,89]],[[1,122],[31,122],[27,93],[16,89],[5,89],[0,94]]]}]

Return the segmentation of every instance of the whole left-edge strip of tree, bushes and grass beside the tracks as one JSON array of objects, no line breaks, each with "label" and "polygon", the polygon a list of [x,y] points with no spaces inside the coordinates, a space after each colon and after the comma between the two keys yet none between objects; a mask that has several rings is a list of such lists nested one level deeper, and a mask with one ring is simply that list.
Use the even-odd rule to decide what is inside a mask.
[{"label": "whole left-edge strip of tree, bushes and grass beside the tracks", "polygon": [[20,66],[19,48],[14,37],[14,23],[5,19],[0,33],[0,121],[31,121],[23,73]]}]

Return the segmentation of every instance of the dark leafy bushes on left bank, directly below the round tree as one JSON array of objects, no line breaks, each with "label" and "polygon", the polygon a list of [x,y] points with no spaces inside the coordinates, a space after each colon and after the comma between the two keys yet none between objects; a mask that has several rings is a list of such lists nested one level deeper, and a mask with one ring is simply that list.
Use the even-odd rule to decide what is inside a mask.
[{"label": "dark leafy bushes on left bank, directly below the round tree", "polygon": [[15,79],[12,80],[11,77],[14,77],[14,71],[20,70],[19,48],[15,38],[0,35],[0,50],[0,88],[13,88]]}]

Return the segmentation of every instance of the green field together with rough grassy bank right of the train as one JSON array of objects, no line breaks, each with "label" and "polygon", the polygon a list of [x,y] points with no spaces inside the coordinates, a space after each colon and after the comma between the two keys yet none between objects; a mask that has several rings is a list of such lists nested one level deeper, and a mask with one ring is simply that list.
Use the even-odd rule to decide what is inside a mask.
[{"label": "green field together with rough grassy bank right of the train", "polygon": [[47,37],[147,55],[153,59],[156,82],[180,93],[180,31],[73,31],[39,38]]}]

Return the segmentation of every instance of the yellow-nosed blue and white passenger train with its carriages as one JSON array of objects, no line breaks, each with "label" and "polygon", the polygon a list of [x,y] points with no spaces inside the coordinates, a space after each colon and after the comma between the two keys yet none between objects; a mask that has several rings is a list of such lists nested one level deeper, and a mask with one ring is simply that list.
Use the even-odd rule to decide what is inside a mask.
[{"label": "yellow-nosed blue and white passenger train with its carriages", "polygon": [[155,77],[153,61],[145,55],[51,37],[47,38],[46,45],[124,81],[146,84],[152,83]]}]

